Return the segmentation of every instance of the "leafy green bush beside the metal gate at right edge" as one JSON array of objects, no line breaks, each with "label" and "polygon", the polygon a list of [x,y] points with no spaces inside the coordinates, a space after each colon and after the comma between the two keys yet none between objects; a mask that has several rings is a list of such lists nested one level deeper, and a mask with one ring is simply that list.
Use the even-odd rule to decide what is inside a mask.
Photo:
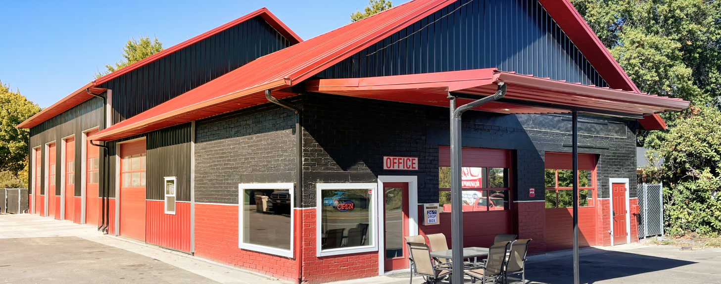
[{"label": "leafy green bush beside the metal gate at right edge", "polygon": [[[677,114],[678,115],[678,114]],[[668,131],[655,131],[647,144],[644,173],[663,181],[664,219],[669,234],[721,234],[721,112],[692,107]],[[659,163],[658,159],[663,159]]]}]

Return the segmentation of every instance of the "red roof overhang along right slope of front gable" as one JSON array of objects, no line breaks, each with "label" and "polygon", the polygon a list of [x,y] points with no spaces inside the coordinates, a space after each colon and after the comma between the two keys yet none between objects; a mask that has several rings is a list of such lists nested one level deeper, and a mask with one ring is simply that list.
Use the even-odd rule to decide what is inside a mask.
[{"label": "red roof overhang along right slope of front gable", "polygon": [[[539,0],[539,3],[611,88],[641,92],[570,1]],[[647,115],[638,121],[645,130],[666,129],[666,123],[660,115]]]}]

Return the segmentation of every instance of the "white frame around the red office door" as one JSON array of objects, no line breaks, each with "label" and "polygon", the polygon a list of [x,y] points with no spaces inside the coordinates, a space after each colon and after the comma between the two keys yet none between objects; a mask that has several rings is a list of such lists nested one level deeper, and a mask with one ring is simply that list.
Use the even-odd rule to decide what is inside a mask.
[{"label": "white frame around the red office door", "polygon": [[407,182],[408,183],[408,235],[418,235],[418,176],[378,176],[378,275],[385,274],[386,265],[386,239],[383,234],[386,214],[384,214],[384,182]]}]

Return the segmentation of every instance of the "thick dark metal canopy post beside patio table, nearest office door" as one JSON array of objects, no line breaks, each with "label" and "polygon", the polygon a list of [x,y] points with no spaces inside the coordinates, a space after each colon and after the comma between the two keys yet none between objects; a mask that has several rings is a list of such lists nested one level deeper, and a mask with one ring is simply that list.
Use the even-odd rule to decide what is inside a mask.
[{"label": "thick dark metal canopy post beside patio table, nearest office door", "polygon": [[456,97],[451,99],[451,283],[463,283],[463,192],[461,192],[461,116],[455,115]]}]

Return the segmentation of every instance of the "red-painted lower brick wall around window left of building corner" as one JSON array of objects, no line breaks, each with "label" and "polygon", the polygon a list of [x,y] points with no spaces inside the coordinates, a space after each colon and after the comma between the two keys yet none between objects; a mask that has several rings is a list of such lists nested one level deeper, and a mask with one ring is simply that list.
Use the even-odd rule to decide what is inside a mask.
[{"label": "red-painted lower brick wall around window left of building corner", "polygon": [[283,280],[298,278],[296,259],[238,247],[237,205],[195,203],[195,255]]}]

